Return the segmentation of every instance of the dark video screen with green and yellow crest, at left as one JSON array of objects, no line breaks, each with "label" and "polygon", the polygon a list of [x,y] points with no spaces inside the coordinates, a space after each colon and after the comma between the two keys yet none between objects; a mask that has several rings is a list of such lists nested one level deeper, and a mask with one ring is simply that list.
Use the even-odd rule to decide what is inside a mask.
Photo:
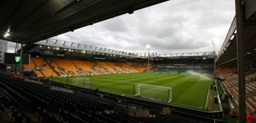
[{"label": "dark video screen with green and yellow crest, at left", "polygon": [[[4,64],[19,64],[21,57],[18,53],[8,53],[5,52]],[[22,64],[29,64],[30,54],[22,54]]]}]

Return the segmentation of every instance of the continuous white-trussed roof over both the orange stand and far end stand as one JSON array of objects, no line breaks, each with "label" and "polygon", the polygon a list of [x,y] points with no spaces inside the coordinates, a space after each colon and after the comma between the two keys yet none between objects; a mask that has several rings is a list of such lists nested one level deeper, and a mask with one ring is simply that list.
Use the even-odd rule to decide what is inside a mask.
[{"label": "continuous white-trussed roof over both the orange stand and far end stand", "polygon": [[[72,43],[64,40],[46,39],[39,42],[25,45],[22,49],[24,52],[32,52],[44,56],[54,57],[85,57],[98,59],[196,59],[205,58],[213,59],[214,52],[190,52],[190,53],[170,53],[157,54],[157,52],[124,52],[112,50],[104,47]],[[19,50],[20,51],[20,50]],[[18,51],[18,52],[19,52]]]}]

